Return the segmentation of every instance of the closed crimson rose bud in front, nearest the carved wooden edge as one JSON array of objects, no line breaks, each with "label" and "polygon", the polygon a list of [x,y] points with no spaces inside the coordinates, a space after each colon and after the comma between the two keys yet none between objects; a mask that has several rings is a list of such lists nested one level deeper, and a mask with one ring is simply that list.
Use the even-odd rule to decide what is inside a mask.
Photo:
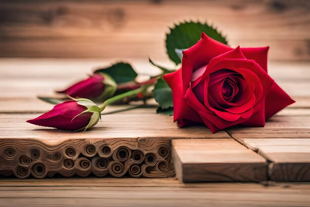
[{"label": "closed crimson rose bud in front, nearest the carved wooden edge", "polygon": [[79,131],[95,126],[100,118],[100,108],[93,101],[78,98],[57,104],[51,111],[27,122],[60,130]]}]

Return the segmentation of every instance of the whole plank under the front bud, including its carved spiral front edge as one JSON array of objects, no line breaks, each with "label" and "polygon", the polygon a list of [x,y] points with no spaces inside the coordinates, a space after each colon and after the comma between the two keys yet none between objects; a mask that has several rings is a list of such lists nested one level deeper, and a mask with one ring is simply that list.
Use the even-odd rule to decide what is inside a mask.
[{"label": "whole plank under the front bud, including its carved spiral front edge", "polygon": [[26,123],[36,116],[0,114],[0,175],[171,177],[172,138],[229,138],[223,131],[213,135],[207,127],[178,128],[155,108],[103,115],[87,133]]}]

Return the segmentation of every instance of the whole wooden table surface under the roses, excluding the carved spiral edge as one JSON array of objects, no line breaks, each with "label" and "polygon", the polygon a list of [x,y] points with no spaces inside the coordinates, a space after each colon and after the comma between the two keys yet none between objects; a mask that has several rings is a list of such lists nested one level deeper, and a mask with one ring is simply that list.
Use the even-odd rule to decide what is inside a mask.
[{"label": "whole wooden table surface under the roses, excluding the carved spiral edge", "polygon": [[[25,123],[52,108],[37,95],[52,95],[53,89],[84,78],[111,61],[1,59],[0,138],[32,138],[51,144],[80,138],[172,139],[177,176],[1,177],[0,206],[310,206],[309,183],[296,183],[310,181],[309,63],[269,64],[270,75],[297,102],[272,117],[264,128],[233,127],[214,135],[206,127],[180,129],[172,117],[155,114],[155,108],[104,115],[98,126],[84,134]],[[137,71],[158,72],[147,60],[130,61]],[[182,183],[176,178],[239,182]]]}]

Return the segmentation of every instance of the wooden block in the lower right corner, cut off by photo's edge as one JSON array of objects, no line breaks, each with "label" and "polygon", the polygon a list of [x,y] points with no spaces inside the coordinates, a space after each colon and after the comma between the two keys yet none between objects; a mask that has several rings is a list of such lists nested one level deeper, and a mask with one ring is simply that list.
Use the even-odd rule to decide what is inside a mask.
[{"label": "wooden block in the lower right corner, cut off by photo's edge", "polygon": [[244,138],[242,141],[271,162],[270,180],[310,181],[309,138]]}]

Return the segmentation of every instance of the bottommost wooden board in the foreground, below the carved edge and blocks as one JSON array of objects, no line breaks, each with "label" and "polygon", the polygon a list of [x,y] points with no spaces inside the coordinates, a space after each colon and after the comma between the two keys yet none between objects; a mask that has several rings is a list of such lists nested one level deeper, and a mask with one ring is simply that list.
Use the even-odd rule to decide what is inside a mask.
[{"label": "bottommost wooden board in the foreground, below the carved edge and blocks", "polygon": [[184,184],[176,179],[129,178],[0,179],[3,207],[308,207],[309,194],[309,184]]}]

